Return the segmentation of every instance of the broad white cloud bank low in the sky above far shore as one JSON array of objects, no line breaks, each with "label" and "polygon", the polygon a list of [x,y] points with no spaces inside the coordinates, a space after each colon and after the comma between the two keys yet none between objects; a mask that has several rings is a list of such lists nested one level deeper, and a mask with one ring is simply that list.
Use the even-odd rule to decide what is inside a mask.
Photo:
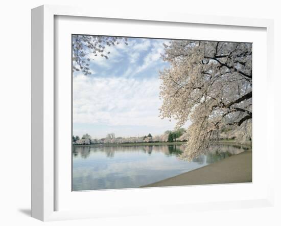
[{"label": "broad white cloud bank low in the sky above far shore", "polygon": [[79,75],[73,79],[73,122],[109,126],[171,125],[161,120],[158,108],[160,80],[97,78]]}]

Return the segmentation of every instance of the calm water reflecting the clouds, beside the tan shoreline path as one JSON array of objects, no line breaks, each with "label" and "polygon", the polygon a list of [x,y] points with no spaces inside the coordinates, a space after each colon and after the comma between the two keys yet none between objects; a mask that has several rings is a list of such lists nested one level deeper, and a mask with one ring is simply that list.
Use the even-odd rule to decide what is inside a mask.
[{"label": "calm water reflecting the clouds, beside the tan shoreline path", "polygon": [[192,162],[182,145],[73,147],[73,191],[138,188],[225,159],[246,148],[218,145]]}]

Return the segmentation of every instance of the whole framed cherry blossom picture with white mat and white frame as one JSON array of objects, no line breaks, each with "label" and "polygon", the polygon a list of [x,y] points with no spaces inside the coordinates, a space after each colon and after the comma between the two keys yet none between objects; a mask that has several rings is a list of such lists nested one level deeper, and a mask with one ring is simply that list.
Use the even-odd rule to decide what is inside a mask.
[{"label": "whole framed cherry blossom picture with white mat and white frame", "polygon": [[32,216],[273,205],[272,51],[272,20],[33,9]]}]

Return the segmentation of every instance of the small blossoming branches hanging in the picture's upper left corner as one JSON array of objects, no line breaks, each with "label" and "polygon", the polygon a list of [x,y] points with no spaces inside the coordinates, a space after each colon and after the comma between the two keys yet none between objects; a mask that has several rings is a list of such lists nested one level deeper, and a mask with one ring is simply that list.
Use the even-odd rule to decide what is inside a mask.
[{"label": "small blossoming branches hanging in the picture's upper left corner", "polygon": [[116,46],[127,38],[94,36],[94,35],[72,35],[72,70],[82,71],[84,75],[90,75],[90,60],[96,56],[108,59],[110,52],[106,52],[106,46]]}]

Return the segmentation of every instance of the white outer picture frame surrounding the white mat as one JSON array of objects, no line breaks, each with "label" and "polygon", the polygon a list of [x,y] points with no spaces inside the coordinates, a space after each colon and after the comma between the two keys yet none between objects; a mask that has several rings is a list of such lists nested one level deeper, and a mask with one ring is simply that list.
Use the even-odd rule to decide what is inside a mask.
[{"label": "white outer picture frame surrounding the white mat", "polygon": [[[103,11],[91,12],[87,8],[78,7],[62,7],[44,5],[32,9],[32,217],[43,220],[63,220],[63,219],[81,219],[106,217],[108,212],[101,209],[88,208],[84,210],[56,210],[56,187],[57,177],[55,167],[57,164],[55,153],[55,136],[56,136],[56,95],[55,95],[55,16],[79,16],[80,18],[111,18],[126,19],[139,21],[160,21],[173,22],[180,24],[194,25],[218,25],[225,27],[242,27],[242,28],[263,28],[266,29],[266,83],[267,83],[267,108],[266,114],[266,156],[274,155],[273,138],[269,135],[269,130],[273,131],[273,105],[274,99],[269,98],[273,93],[273,21],[269,19],[251,19],[237,17],[219,17],[219,16],[198,16],[188,14],[150,14],[147,12],[136,11]],[[258,129],[258,128],[253,128]],[[253,141],[254,142],[254,141]],[[255,162],[253,162],[255,164]],[[266,162],[268,172],[273,172],[273,165]],[[253,181],[254,183],[254,181]],[[206,209],[233,209],[233,208],[249,208],[249,207],[266,207],[272,206],[274,201],[273,189],[273,173],[268,174],[266,183],[266,192],[255,198],[237,198],[236,200],[219,200],[217,202],[185,202],[180,203],[170,200],[161,203],[157,208],[147,211],[143,206],[130,208],[130,201],[127,200],[127,206],[119,204],[122,211],[111,211],[110,216],[129,216],[148,213],[171,213],[171,212],[188,212],[190,210],[206,210]],[[202,186],[205,187],[205,186]],[[196,188],[196,187],[195,187]],[[199,189],[199,187],[197,187]],[[171,192],[176,188],[158,188],[166,189]],[[177,188],[177,192],[184,192],[184,187]],[[179,190],[180,189],[180,190]],[[215,189],[215,187],[208,189]],[[155,189],[142,189],[146,194],[155,194]],[[129,191],[129,190],[128,190]],[[159,191],[159,190],[158,190]],[[124,190],[123,193],[124,194]],[[130,190],[133,197],[140,191]],[[156,191],[157,193],[157,191]],[[85,193],[90,195],[89,192]],[[102,194],[102,193],[100,193]],[[121,193],[119,193],[121,194]],[[151,195],[150,194],[150,195]],[[114,193],[112,193],[114,195]],[[129,197],[127,197],[129,199]],[[173,207],[173,208],[171,208]],[[171,211],[172,209],[172,211]]]}]

